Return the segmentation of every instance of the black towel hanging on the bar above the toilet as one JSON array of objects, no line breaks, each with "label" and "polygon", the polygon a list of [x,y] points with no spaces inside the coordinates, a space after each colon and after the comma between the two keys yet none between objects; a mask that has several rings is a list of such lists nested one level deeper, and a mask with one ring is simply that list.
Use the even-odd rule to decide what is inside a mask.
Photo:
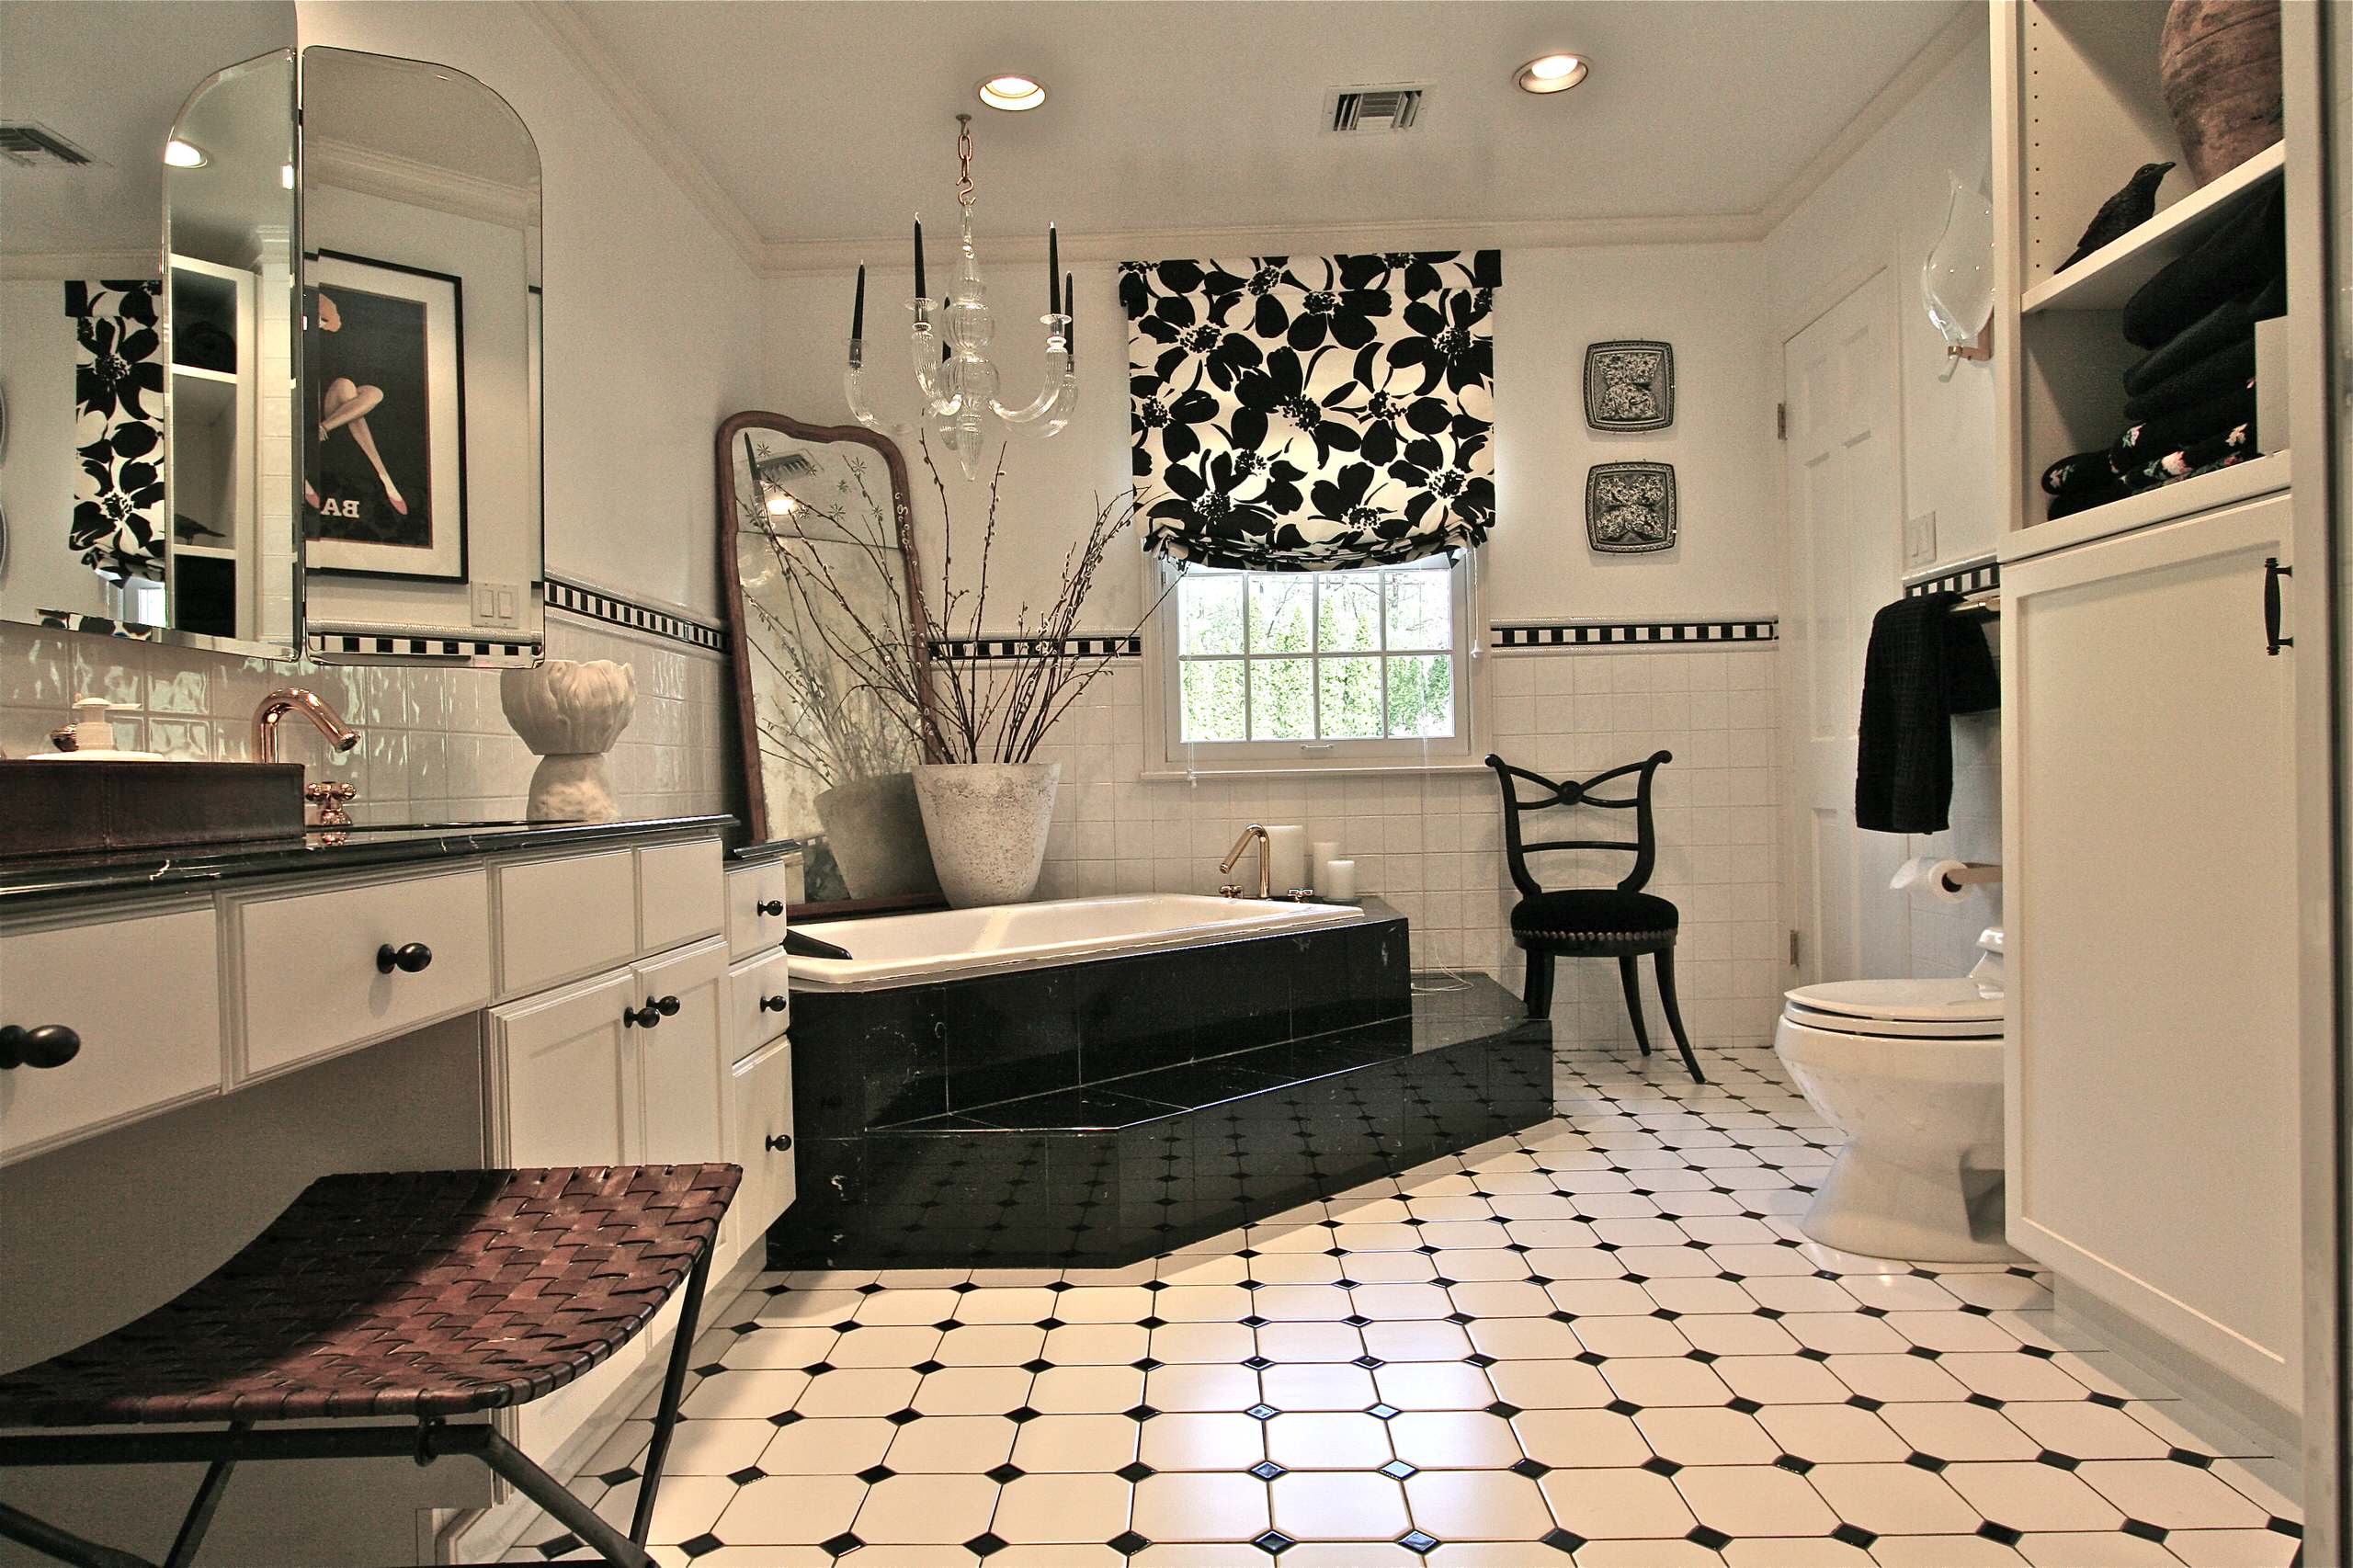
[{"label": "black towel hanging on the bar above the toilet", "polygon": [[1986,633],[1953,614],[1960,593],[1920,593],[1871,617],[1854,746],[1854,824],[1941,833],[1953,810],[1953,713],[2000,706]]}]

